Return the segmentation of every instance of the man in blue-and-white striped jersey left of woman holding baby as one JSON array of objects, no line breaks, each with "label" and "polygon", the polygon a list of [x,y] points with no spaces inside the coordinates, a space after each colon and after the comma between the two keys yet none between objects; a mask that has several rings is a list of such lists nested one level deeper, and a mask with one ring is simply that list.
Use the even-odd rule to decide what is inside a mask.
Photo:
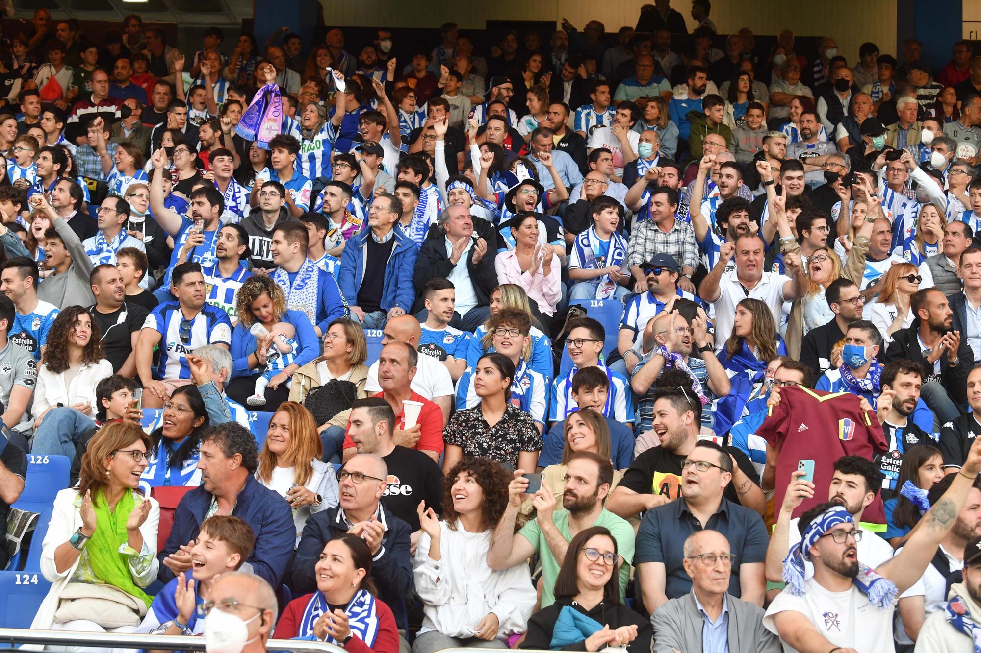
[{"label": "man in blue-and-white striped jersey left of woman holding baby", "polygon": [[[144,408],[161,408],[171,392],[191,382],[186,354],[206,344],[228,347],[232,343],[229,316],[205,303],[200,264],[176,266],[171,292],[176,300],[164,302],[147,316],[136,342],[136,374],[144,388]],[[158,344],[160,362],[151,369]]]}]

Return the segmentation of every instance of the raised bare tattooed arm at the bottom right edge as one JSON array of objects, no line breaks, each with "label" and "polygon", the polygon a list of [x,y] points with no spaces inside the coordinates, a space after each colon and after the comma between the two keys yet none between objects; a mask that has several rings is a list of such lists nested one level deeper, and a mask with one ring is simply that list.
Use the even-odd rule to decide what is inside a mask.
[{"label": "raised bare tattooed arm at the bottom right edge", "polygon": [[976,481],[979,471],[981,439],[974,440],[967,453],[967,460],[956,473],[951,487],[923,516],[916,530],[906,540],[903,550],[876,569],[879,574],[895,582],[901,594],[923,576],[927,565],[937,553],[937,546],[954,526],[957,513],[967,499],[967,492]]}]

